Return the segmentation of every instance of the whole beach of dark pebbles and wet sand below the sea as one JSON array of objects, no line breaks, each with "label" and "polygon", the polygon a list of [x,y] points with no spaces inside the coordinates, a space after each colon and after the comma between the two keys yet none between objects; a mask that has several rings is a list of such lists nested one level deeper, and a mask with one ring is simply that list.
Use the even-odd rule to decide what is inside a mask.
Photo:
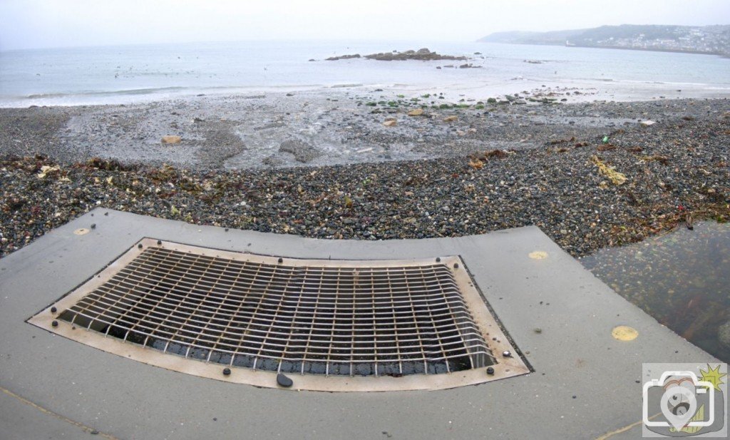
[{"label": "whole beach of dark pebbles and wet sand below the sea", "polygon": [[574,256],[730,219],[727,99],[525,92],[0,109],[0,255],[96,207],[328,239],[537,225]]}]

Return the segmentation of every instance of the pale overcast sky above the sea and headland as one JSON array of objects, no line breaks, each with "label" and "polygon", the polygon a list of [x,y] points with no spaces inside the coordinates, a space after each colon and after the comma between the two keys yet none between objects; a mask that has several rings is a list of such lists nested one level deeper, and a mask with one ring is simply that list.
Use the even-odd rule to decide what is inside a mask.
[{"label": "pale overcast sky above the sea and headland", "polygon": [[0,50],[246,39],[472,41],[496,31],[730,23],[730,0],[0,0]]}]

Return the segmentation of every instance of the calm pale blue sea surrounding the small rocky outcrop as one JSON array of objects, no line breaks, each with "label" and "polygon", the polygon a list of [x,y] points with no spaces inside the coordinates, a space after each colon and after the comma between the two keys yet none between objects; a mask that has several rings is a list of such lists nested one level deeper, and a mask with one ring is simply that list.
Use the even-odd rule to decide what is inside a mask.
[{"label": "calm pale blue sea surrounding the small rocky outcrop", "polygon": [[[323,61],[420,47],[472,57],[468,62],[482,68],[445,67],[464,61]],[[204,42],[0,52],[0,107],[374,87],[483,99],[543,85],[595,90],[596,99],[730,96],[730,59],[479,42]]]}]

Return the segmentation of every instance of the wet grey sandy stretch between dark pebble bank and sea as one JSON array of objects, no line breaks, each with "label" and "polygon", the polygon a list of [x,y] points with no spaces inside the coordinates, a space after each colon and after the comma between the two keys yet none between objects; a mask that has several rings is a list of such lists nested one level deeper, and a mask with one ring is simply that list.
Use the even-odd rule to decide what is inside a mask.
[{"label": "wet grey sandy stretch between dark pebble bank and sea", "polygon": [[[64,163],[99,157],[198,170],[327,166],[526,150],[638,129],[638,120],[705,117],[729,107],[723,99],[581,102],[591,99],[590,90],[566,88],[507,98],[490,104],[448,93],[342,90],[0,109],[0,155],[40,153]],[[423,115],[408,116],[412,109]],[[388,120],[396,122],[384,126]],[[182,142],[162,144],[166,135]]]}]

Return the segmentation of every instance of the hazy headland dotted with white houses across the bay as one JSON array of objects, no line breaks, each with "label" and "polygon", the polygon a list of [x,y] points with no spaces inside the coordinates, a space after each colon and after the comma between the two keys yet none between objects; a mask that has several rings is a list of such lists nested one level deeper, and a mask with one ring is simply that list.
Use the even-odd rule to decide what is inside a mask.
[{"label": "hazy headland dotted with white houses across the bay", "polygon": [[497,32],[477,41],[520,45],[568,45],[670,50],[730,56],[730,25],[621,25],[551,32]]}]

